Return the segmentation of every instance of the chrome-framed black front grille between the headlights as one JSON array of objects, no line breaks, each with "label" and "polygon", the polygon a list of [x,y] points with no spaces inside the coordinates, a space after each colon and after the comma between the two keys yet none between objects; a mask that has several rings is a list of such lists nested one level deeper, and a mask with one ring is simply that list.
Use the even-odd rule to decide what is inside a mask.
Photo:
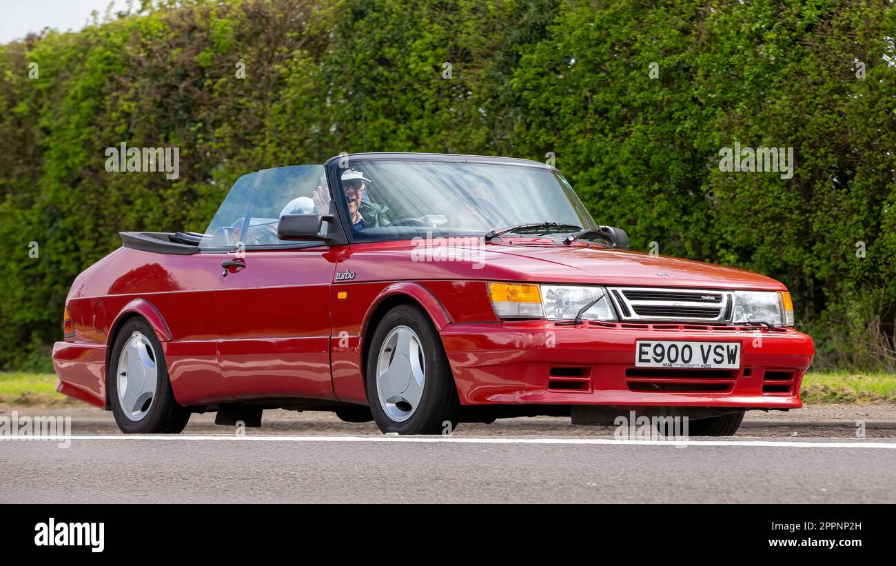
[{"label": "chrome-framed black front grille between the headlights", "polygon": [[710,322],[724,324],[731,319],[732,291],[610,287],[622,322]]}]

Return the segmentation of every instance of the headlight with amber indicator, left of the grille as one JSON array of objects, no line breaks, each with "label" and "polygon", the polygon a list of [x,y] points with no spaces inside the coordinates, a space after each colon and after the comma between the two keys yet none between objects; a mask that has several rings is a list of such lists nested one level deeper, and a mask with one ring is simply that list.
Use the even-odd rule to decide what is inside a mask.
[{"label": "headlight with amber indicator, left of the grille", "polygon": [[488,293],[495,314],[501,319],[547,318],[573,320],[586,305],[582,319],[615,321],[604,287],[489,283]]}]

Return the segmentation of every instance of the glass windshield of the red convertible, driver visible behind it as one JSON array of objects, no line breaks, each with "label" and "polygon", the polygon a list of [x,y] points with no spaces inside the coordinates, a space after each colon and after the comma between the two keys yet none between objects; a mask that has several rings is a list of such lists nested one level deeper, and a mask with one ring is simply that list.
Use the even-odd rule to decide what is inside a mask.
[{"label": "glass windshield of the red convertible, driver visible behind it", "polygon": [[419,160],[354,160],[336,168],[342,214],[354,239],[389,239],[426,232],[484,236],[547,235],[596,228],[559,172],[524,164]]}]

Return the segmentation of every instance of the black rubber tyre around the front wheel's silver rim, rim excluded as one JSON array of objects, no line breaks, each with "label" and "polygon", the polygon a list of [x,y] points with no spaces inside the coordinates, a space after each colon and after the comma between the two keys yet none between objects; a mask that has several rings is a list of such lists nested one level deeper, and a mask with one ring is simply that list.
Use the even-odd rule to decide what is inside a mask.
[{"label": "black rubber tyre around the front wheel's silver rim, rim excluded", "polygon": [[[376,364],[383,341],[392,330],[406,326],[413,330],[420,342],[425,363],[426,380],[418,407],[407,420],[396,422],[383,409],[376,383]],[[439,338],[426,313],[417,306],[400,304],[383,316],[377,325],[366,364],[367,400],[374,421],[383,433],[443,434],[450,424],[450,431],[457,426],[461,413],[454,376],[445,356],[442,339]]]}]

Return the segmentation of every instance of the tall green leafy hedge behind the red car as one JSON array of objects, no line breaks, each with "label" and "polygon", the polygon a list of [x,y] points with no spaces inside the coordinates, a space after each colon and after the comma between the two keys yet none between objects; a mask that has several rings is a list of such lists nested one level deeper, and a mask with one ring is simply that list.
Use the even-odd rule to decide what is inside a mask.
[{"label": "tall green leafy hedge behind the red car", "polygon": [[[633,248],[784,281],[817,364],[896,365],[886,1],[149,4],[0,47],[0,367],[46,367],[119,231],[202,230],[246,171],[363,150],[362,105],[367,150],[552,152]],[[180,177],[107,173],[121,142],[179,147]],[[735,142],[793,148],[793,178],[719,171]]]}]

